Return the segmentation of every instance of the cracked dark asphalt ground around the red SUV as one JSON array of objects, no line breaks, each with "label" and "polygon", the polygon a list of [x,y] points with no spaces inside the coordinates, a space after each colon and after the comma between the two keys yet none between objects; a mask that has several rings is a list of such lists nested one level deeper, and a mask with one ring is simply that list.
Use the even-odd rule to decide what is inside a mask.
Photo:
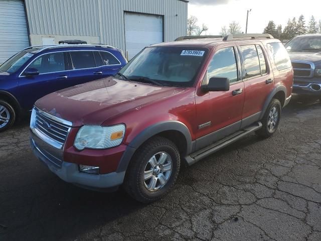
[{"label": "cracked dark asphalt ground around the red SUV", "polygon": [[142,205],[60,180],[32,154],[28,121],[0,134],[0,240],[321,240],[321,104],[291,102],[278,132],[183,168]]}]

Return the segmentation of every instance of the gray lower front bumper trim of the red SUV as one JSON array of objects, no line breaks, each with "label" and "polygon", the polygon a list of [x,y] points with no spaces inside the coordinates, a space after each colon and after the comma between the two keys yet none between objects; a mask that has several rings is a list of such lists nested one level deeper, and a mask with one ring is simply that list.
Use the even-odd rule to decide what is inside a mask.
[{"label": "gray lower front bumper trim of the red SUV", "polygon": [[125,172],[112,172],[99,175],[82,173],[79,172],[78,165],[75,163],[62,162],[61,168],[57,168],[46,156],[39,152],[32,139],[31,146],[34,155],[43,161],[53,173],[66,182],[93,188],[111,188],[121,185],[124,180]]}]

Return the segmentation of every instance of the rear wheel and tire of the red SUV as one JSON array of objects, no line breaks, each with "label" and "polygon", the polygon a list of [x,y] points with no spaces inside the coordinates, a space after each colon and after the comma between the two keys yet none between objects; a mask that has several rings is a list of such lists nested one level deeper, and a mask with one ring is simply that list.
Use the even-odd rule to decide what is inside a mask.
[{"label": "rear wheel and tire of the red SUV", "polygon": [[281,117],[281,103],[272,99],[261,119],[262,128],[255,133],[263,138],[271,137],[277,130]]}]

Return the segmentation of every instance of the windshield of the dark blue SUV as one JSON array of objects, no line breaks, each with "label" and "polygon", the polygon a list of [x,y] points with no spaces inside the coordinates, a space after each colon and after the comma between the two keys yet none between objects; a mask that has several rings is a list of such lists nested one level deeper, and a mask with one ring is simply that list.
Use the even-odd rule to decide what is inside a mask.
[{"label": "windshield of the dark blue SUV", "polygon": [[28,51],[21,51],[8,59],[0,66],[0,72],[14,73],[23,66],[34,54]]}]

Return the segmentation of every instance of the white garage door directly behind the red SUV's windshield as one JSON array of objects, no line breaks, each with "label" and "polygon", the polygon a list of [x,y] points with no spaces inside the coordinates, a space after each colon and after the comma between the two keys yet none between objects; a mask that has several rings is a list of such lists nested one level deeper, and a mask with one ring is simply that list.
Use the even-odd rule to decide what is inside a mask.
[{"label": "white garage door directly behind the red SUV's windshield", "polygon": [[162,16],[125,13],[125,44],[129,59],[144,47],[162,42]]}]

